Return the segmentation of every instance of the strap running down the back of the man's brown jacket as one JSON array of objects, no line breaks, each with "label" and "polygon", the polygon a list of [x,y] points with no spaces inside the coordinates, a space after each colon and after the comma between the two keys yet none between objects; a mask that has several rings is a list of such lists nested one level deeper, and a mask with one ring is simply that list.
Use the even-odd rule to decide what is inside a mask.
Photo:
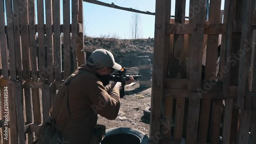
[{"label": "strap running down the back of the man's brown jacket", "polygon": [[[67,111],[68,111],[68,117],[70,118],[69,109],[68,109],[68,89],[69,89],[69,84],[70,84],[70,81],[71,81],[76,75],[78,75],[78,74],[80,74],[80,73],[84,73],[84,72],[87,72],[87,71],[82,69],[82,70],[79,70],[78,73],[73,73],[73,74],[71,74],[71,75],[64,81],[64,85],[62,85],[62,86],[60,87],[58,93],[60,93],[60,95],[61,95],[61,100],[60,100],[60,102],[57,102],[57,104],[54,106],[54,107],[57,108],[57,113],[55,114],[54,111],[52,111],[52,118],[53,118],[53,119],[54,119],[54,118],[57,119],[57,117],[58,117],[58,113],[59,113],[59,109],[60,109],[60,104],[61,104],[63,98],[65,97],[65,93],[67,93],[67,96],[65,97],[64,100],[67,101],[67,102],[66,102],[66,105],[67,105],[66,108],[67,108]],[[52,109],[52,108],[51,108],[51,109]],[[55,117],[55,115],[56,115],[56,117]]]}]

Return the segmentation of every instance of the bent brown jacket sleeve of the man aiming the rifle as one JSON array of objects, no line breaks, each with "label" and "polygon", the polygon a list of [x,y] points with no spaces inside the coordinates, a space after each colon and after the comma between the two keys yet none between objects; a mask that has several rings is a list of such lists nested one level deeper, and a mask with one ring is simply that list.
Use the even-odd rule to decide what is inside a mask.
[{"label": "bent brown jacket sleeve of the man aiming the rifle", "polygon": [[107,119],[115,119],[120,108],[119,89],[114,87],[108,94],[97,77],[90,77],[87,81],[90,81],[90,84],[83,90],[93,103],[91,106],[93,111]]}]

